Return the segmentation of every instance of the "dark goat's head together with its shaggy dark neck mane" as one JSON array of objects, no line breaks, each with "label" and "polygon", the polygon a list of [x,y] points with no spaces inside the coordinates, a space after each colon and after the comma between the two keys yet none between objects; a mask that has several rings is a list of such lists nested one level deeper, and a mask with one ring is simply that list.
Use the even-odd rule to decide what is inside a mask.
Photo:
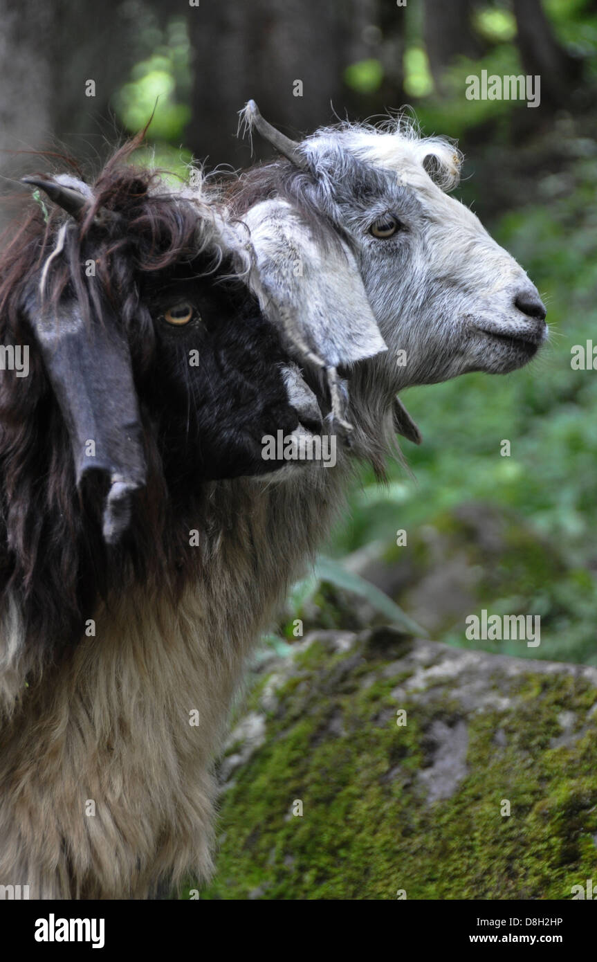
[{"label": "dark goat's head together with its shaggy dark neck mane", "polygon": [[96,590],[192,576],[206,482],[282,467],[262,436],[321,419],[217,194],[122,160],[92,188],[29,178],[50,213],[31,205],[0,259],[0,338],[30,345],[29,376],[0,382],[0,592],[64,641]]}]

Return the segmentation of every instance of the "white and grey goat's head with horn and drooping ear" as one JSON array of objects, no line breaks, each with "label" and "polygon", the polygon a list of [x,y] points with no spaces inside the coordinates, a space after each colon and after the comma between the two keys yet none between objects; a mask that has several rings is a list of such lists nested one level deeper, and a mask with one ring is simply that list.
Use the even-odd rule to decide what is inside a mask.
[{"label": "white and grey goat's head with horn and drooping ear", "polygon": [[535,355],[547,336],[543,304],[522,267],[446,194],[460,173],[448,141],[392,121],[342,123],[294,142],[253,101],[245,118],[286,156],[257,167],[239,191],[259,282],[274,306],[279,297],[304,316],[311,302],[303,340],[330,364],[375,355],[383,338],[375,367],[395,392],[505,373]]}]

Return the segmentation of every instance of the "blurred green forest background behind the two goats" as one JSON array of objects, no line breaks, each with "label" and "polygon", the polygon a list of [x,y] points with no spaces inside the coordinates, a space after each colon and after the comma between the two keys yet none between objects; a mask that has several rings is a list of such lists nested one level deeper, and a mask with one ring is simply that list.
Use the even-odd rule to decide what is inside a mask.
[{"label": "blurred green forest background behind the two goats", "polygon": [[[184,176],[193,158],[270,156],[236,138],[250,97],[289,136],[407,106],[459,139],[457,195],[548,306],[531,367],[405,393],[424,437],[403,445],[412,476],[392,465],[380,487],[363,470],[264,651],[284,653],[297,619],[408,616],[448,644],[597,664],[597,370],[571,367],[574,345],[597,345],[596,52],[597,0],[0,0],[5,193],[39,169],[28,151],[92,170],[152,112],[137,163]],[[539,75],[540,106],[466,99],[482,70]],[[467,643],[484,608],[540,615],[540,646]]]}]

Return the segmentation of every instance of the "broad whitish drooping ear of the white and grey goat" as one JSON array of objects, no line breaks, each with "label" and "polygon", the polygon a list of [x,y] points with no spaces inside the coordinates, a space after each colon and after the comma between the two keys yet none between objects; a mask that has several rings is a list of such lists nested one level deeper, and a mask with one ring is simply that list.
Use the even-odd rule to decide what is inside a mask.
[{"label": "broad whitish drooping ear of the white and grey goat", "polygon": [[318,238],[282,200],[257,204],[244,220],[255,251],[252,286],[301,360],[339,367],[387,350],[347,244]]}]

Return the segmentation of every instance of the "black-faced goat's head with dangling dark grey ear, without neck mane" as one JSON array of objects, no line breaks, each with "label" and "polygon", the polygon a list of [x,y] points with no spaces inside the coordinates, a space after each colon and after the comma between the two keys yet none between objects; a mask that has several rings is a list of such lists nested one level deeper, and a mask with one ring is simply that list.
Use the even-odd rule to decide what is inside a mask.
[{"label": "black-faced goat's head with dangling dark grey ear, without neck mane", "polygon": [[298,425],[278,335],[231,275],[236,235],[205,196],[152,191],[152,179],[122,167],[92,192],[70,176],[25,178],[70,215],[23,279],[18,306],[70,434],[77,484],[87,474],[109,482],[108,542],[146,481],[140,409],[191,486],[271,470],[261,435]]}]

